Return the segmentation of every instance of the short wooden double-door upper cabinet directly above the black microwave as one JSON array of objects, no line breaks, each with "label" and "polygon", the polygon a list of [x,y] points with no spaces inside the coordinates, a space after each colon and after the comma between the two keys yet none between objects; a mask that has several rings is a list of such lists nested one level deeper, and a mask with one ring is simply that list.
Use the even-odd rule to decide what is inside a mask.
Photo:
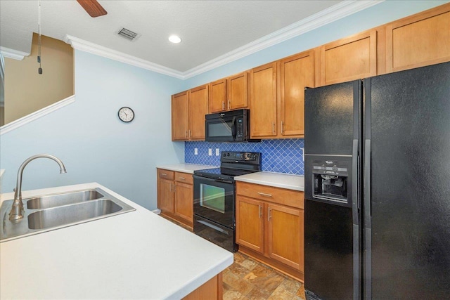
[{"label": "short wooden double-door upper cabinet directly above the black microwave", "polygon": [[248,107],[248,72],[210,83],[210,113]]}]

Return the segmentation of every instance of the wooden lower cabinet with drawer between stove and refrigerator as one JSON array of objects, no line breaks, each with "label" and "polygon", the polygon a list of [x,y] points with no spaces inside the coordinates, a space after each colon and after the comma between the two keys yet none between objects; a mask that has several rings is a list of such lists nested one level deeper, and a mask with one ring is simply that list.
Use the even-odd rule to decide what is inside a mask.
[{"label": "wooden lower cabinet with drawer between stove and refrigerator", "polygon": [[239,251],[304,281],[304,194],[236,183]]}]

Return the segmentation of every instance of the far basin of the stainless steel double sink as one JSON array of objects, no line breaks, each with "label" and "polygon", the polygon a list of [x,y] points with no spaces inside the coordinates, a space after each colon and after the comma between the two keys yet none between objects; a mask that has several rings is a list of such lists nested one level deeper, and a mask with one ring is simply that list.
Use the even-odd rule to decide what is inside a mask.
[{"label": "far basin of the stainless steel double sink", "polygon": [[85,202],[102,197],[103,195],[98,190],[80,190],[79,192],[41,196],[27,200],[27,208],[48,209],[50,207],[60,207],[61,205]]}]

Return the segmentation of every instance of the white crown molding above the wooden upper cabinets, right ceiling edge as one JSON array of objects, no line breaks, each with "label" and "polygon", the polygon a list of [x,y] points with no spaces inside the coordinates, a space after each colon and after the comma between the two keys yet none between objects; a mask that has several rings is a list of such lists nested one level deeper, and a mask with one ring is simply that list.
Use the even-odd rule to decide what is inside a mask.
[{"label": "white crown molding above the wooden upper cabinets, right ceiling edge", "polygon": [[261,51],[270,46],[274,46],[293,37],[297,37],[301,34],[315,30],[323,25],[327,25],[336,20],[347,17],[347,15],[352,15],[358,11],[362,11],[376,4],[380,4],[385,0],[370,0],[370,1],[342,1],[339,4],[331,6],[319,13],[310,15],[308,18],[304,18],[299,22],[295,22],[287,27],[283,27],[281,30],[267,34],[266,36],[252,41],[240,48],[236,48],[229,53],[225,53],[222,56],[214,58],[213,60],[207,61],[197,67],[193,67],[186,72],[184,72],[184,79],[188,79],[198,74],[215,69],[221,65],[226,65],[234,60],[249,56],[252,53]]}]

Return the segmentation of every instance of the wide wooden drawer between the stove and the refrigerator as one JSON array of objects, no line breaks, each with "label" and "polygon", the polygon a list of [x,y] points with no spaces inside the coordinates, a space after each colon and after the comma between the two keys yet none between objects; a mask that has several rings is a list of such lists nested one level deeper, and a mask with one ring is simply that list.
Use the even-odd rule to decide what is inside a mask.
[{"label": "wide wooden drawer between the stove and the refrigerator", "polygon": [[236,194],[304,209],[304,193],[253,183],[236,183]]}]

